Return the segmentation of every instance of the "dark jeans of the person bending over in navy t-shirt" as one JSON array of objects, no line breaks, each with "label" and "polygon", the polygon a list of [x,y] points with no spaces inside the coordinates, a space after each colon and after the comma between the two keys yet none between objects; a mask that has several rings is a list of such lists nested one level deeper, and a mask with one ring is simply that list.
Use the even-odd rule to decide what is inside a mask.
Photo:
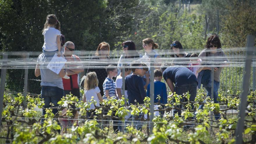
[{"label": "dark jeans of the person bending over in navy t-shirt", "polygon": [[[196,97],[196,88],[197,88],[197,82],[196,83],[192,83],[192,84],[183,84],[181,86],[175,86],[174,88],[174,92],[176,92],[177,95],[183,95],[187,92],[189,92],[190,94],[190,101],[195,101],[195,97]],[[181,99],[181,102],[186,102],[186,98],[183,97]],[[175,99],[173,100],[173,102],[175,102]],[[178,108],[182,108],[182,105],[179,105]],[[194,106],[192,105],[192,109],[194,108]],[[173,111],[173,115],[175,115],[176,113],[178,113],[178,115],[181,115],[181,110],[174,110]]]}]

